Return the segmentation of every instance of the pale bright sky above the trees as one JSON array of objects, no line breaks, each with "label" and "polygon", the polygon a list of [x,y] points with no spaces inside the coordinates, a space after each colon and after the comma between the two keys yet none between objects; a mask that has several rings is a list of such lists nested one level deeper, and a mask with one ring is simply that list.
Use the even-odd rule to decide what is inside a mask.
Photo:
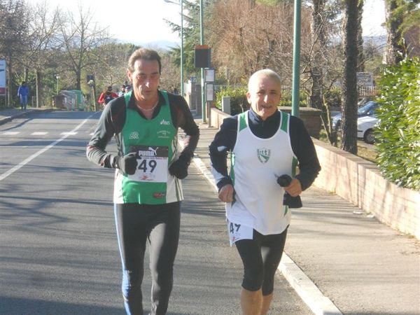
[{"label": "pale bright sky above the trees", "polygon": [[[36,3],[44,0],[27,0]],[[77,10],[74,0],[45,0],[52,9]],[[179,2],[179,0],[172,0]],[[245,0],[244,0],[245,1]],[[109,27],[114,38],[130,43],[170,41],[179,43],[178,34],[172,33],[164,21],[181,22],[181,6],[164,0],[83,0],[83,8],[90,8],[102,27]],[[363,11],[363,36],[386,34],[381,24],[385,22],[384,0],[365,0]]]}]

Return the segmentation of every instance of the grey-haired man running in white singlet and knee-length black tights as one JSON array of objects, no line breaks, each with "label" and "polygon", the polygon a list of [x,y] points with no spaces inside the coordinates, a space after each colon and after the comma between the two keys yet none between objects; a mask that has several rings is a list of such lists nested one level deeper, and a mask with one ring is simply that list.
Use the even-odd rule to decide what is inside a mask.
[{"label": "grey-haired man running in white singlet and knee-length black tights", "polygon": [[[289,205],[296,207],[290,200],[311,186],[321,169],[302,120],[277,109],[280,83],[272,70],[255,72],[246,93],[251,109],[225,118],[209,148],[219,198],[226,202],[230,244],[244,263],[241,309],[249,315],[268,312],[290,224]],[[291,182],[281,183],[284,176]]]}]

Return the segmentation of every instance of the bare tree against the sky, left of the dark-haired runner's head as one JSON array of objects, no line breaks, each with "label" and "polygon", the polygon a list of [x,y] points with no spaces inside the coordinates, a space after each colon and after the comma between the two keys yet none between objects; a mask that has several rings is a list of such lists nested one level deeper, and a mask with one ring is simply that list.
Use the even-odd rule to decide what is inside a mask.
[{"label": "bare tree against the sky, left of the dark-haired runner's head", "polygon": [[106,28],[99,27],[98,23],[93,21],[91,10],[83,10],[80,4],[78,16],[68,12],[66,17],[64,15],[60,17],[62,52],[64,53],[61,63],[64,69],[74,73],[75,88],[80,90],[83,69],[95,62],[90,59],[90,52],[106,43],[109,35]]}]

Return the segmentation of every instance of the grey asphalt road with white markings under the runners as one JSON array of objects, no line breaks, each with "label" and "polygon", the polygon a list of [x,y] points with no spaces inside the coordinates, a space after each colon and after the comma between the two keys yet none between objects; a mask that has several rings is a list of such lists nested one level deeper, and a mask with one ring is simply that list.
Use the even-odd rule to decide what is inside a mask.
[{"label": "grey asphalt road with white markings under the runners", "polygon": [[[0,126],[0,314],[125,314],[113,171],[85,158],[97,118],[29,113]],[[168,314],[240,314],[242,267],[223,204],[193,165],[183,183]],[[311,314],[283,276],[275,288],[270,314]],[[150,290],[146,272],[145,311]]]}]

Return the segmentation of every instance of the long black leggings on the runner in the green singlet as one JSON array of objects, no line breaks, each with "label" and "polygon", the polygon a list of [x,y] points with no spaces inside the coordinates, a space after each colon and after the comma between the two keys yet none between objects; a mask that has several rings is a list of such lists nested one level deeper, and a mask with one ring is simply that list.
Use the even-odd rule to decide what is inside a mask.
[{"label": "long black leggings on the runner in the green singlet", "polygon": [[152,274],[150,314],[166,314],[178,248],[180,202],[170,204],[116,204],[118,246],[123,262],[123,297],[128,315],[142,315],[141,282],[146,239]]}]

